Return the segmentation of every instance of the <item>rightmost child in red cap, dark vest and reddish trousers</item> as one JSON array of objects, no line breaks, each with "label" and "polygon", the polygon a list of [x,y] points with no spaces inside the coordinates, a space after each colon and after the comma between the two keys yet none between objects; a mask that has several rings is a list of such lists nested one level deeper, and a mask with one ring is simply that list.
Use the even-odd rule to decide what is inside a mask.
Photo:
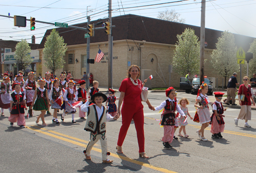
[{"label": "rightmost child in red cap, dark vest and reddish trousers", "polygon": [[221,103],[221,99],[224,93],[215,92],[214,95],[215,95],[216,101],[213,104],[211,104],[213,113],[210,117],[210,121],[211,121],[210,133],[212,133],[211,135],[212,139],[219,139],[219,138],[222,138],[221,133],[224,132],[224,127],[225,127],[224,125],[225,122],[223,120],[224,115],[222,114],[227,109],[223,109],[223,106]]}]

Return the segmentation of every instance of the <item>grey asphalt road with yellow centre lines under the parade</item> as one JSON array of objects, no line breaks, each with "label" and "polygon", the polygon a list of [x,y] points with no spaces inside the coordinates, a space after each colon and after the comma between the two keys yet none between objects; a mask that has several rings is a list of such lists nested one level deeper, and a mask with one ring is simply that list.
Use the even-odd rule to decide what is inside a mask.
[{"label": "grey asphalt road with yellow centre lines under the parade", "polygon": [[[188,110],[194,116],[196,95],[178,93],[178,98],[182,97],[189,99]],[[214,99],[214,96],[209,97]],[[165,93],[149,93],[148,98],[153,106],[166,99]],[[113,164],[102,163],[100,142],[91,152],[92,160],[85,159],[82,151],[90,133],[83,130],[85,122],[78,114],[77,123],[71,123],[71,115],[67,115],[65,122],[60,124],[52,123],[52,116],[47,115],[48,127],[36,125],[34,116],[26,119],[26,128],[20,129],[16,123],[10,127],[9,112],[5,110],[6,117],[0,117],[0,172],[255,172],[256,111],[252,110],[252,120],[248,122],[252,127],[246,128],[244,120],[234,125],[233,119],[240,110],[228,108],[224,114],[223,139],[212,140],[210,128],[207,128],[207,142],[200,141],[197,136],[200,124],[188,120],[189,137],[179,137],[171,144],[172,149],[164,149],[163,128],[155,120],[160,119],[160,113],[149,110],[144,102],[143,105],[145,152],[150,159],[139,158],[134,122],[124,140],[124,154],[116,153],[120,118],[107,123],[109,159],[114,160]],[[60,119],[60,114],[58,117]]]}]

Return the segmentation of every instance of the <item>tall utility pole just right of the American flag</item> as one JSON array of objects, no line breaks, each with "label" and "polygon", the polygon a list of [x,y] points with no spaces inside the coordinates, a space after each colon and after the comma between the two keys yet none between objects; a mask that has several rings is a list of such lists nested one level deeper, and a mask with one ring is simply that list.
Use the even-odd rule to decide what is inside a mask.
[{"label": "tall utility pole just right of the American flag", "polygon": [[112,37],[112,0],[109,0],[109,88],[113,89],[113,37]]}]

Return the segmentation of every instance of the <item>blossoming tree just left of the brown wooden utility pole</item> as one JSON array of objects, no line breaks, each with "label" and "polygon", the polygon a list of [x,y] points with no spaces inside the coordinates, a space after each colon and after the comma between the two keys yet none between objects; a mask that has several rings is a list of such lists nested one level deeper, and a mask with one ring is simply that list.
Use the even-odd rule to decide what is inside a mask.
[{"label": "blossoming tree just left of the brown wooden utility pole", "polygon": [[177,35],[175,44],[173,68],[176,73],[185,76],[189,72],[198,74],[200,68],[200,41],[195,31],[186,28],[181,35]]}]

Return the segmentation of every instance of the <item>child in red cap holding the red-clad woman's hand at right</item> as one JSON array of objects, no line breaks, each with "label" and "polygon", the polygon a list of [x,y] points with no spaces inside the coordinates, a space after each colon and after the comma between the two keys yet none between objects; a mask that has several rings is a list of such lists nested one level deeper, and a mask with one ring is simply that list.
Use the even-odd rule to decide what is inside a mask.
[{"label": "child in red cap holding the red-clad woman's hand at right", "polygon": [[175,112],[178,111],[181,116],[187,117],[177,104],[176,93],[173,87],[165,90],[167,100],[163,101],[159,106],[153,107],[153,111],[159,111],[164,108],[164,112],[161,115],[161,125],[164,128],[164,136],[162,138],[163,146],[165,148],[171,148],[170,143],[174,139],[174,126],[175,126]]}]

